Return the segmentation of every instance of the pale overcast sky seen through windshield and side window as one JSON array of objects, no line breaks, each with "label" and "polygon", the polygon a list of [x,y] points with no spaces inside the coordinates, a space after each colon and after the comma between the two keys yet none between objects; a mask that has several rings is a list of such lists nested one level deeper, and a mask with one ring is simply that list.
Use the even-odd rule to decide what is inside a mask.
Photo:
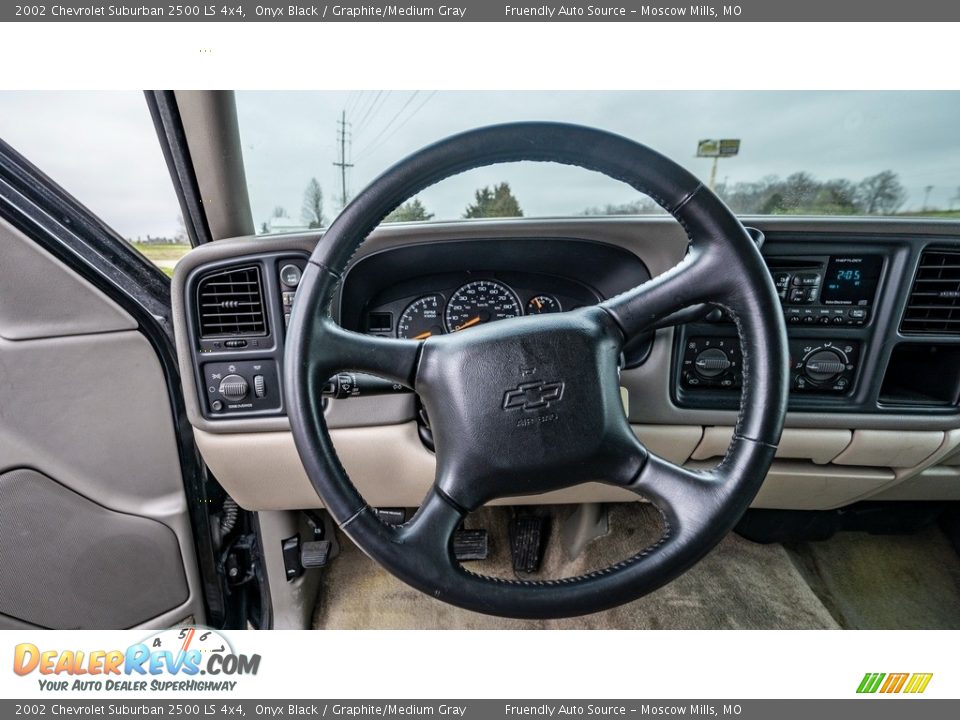
[{"label": "pale overcast sky seen through windshield and side window", "polygon": [[[739,138],[719,182],[785,177],[859,180],[893,170],[904,209],[948,208],[960,191],[958,92],[432,92],[237,93],[256,226],[282,206],[299,219],[316,177],[328,218],[339,209],[338,120],[346,111],[348,193],[416,149],[455,132],[513,120],[594,125],[639,140],[708,178],[697,141]],[[0,92],[0,138],[125,237],[170,235],[179,207],[139,92]],[[507,181],[524,213],[570,215],[638,199],[594,173],[523,163],[471,171],[420,198],[438,218],[462,216],[474,191]]]}]

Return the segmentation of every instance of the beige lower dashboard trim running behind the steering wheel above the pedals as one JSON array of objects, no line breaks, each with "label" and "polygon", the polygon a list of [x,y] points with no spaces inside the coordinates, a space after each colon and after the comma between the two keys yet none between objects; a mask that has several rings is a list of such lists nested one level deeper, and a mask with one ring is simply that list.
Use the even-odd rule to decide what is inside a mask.
[{"label": "beige lower dashboard trim running behind the steering wheel above the pedals", "polygon": [[[658,455],[683,462],[700,442],[702,428],[633,426]],[[709,429],[708,429],[709,430]],[[380,507],[420,504],[433,480],[434,456],[420,441],[416,423],[330,431],[337,454],[361,494]],[[197,446],[217,479],[233,498],[250,510],[294,510],[322,507],[288,432],[223,435],[196,432]],[[709,462],[694,462],[709,467]],[[889,486],[896,476],[889,468],[821,466],[800,460],[777,460],[755,507],[824,509],[870,495]],[[589,483],[547,495],[503,500],[511,504],[620,502],[632,493]]]}]

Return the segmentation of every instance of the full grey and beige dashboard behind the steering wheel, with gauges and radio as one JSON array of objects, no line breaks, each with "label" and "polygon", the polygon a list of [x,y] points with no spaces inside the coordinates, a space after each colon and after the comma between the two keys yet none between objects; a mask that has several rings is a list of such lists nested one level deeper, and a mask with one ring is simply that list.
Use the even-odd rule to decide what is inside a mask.
[{"label": "full grey and beige dashboard behind the steering wheel, with gauges and radio", "polygon": [[[915,499],[960,498],[960,473],[956,483],[930,477],[960,467],[960,228],[747,222],[766,235],[790,348],[786,429],[758,506],[835,507],[906,488]],[[286,322],[318,240],[218,241],[175,274],[188,415],[208,464],[248,507],[318,502],[290,438],[281,373]],[[354,258],[332,310],[350,330],[423,340],[595,304],[666,271],[685,250],[668,218],[384,227]],[[736,326],[718,310],[635,339],[621,373],[635,432],[675,462],[715,463],[735,424],[741,366]],[[413,393],[345,369],[326,394],[327,425],[358,487],[381,505],[417,502],[433,456]],[[273,466],[285,470],[268,490],[255,475]],[[542,501],[616,499],[610,490]]]}]

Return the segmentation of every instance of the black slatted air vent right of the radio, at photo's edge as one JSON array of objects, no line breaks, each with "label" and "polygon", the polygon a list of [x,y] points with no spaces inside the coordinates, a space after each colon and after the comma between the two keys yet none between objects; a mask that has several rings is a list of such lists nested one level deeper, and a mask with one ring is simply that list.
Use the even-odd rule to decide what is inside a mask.
[{"label": "black slatted air vent right of the radio, at photo's edge", "polygon": [[900,332],[960,334],[960,251],[924,251]]}]

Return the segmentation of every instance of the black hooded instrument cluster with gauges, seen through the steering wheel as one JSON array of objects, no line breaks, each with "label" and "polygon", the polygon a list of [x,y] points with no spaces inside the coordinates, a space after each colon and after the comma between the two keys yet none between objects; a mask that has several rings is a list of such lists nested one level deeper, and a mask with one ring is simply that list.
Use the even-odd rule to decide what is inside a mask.
[{"label": "black hooded instrument cluster with gauges, seen through the steering wheel", "polygon": [[[649,279],[636,255],[581,239],[449,240],[359,260],[347,273],[338,309],[350,330],[425,340],[595,305]],[[628,364],[641,362],[648,346],[628,347]]]}]

